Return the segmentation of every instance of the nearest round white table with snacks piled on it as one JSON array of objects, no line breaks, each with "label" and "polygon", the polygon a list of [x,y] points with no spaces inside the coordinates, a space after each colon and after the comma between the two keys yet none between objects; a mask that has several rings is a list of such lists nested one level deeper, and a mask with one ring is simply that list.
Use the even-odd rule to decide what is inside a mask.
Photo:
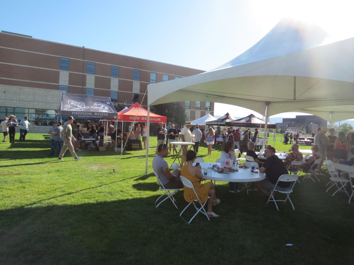
[{"label": "nearest round white table with snacks piled on it", "polygon": [[[200,163],[200,166],[202,168],[202,172],[203,172],[203,168],[204,167],[209,167],[209,165],[215,165],[217,164],[218,166],[225,166],[225,164],[223,163]],[[193,164],[194,165],[194,164]],[[235,166],[233,166],[235,167]],[[218,173],[215,170],[213,170],[211,172],[211,176],[206,176],[203,174],[204,179],[210,179],[213,181],[225,181],[225,182],[257,182],[257,181],[261,181],[263,179],[265,179],[265,173],[261,173],[261,172],[252,172],[251,168],[240,168],[238,169],[239,171],[236,172],[228,172],[228,173]],[[245,185],[242,190],[246,190],[247,186]]]}]

